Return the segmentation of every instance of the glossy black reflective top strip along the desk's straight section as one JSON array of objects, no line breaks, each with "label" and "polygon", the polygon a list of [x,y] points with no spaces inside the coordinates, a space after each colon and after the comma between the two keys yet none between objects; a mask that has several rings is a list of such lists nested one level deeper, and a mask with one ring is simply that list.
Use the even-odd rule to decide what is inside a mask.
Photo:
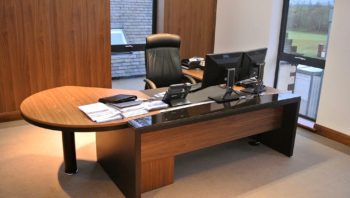
[{"label": "glossy black reflective top strip along the desk's straight section", "polygon": [[[158,90],[164,91],[163,89]],[[153,91],[145,91],[150,96]],[[163,110],[160,114],[146,116],[133,121],[129,124],[137,129],[157,129],[177,124],[186,124],[197,120],[213,119],[226,115],[244,113],[251,110],[258,110],[266,107],[274,107],[281,103],[295,102],[299,97],[290,93],[265,94],[265,95],[246,95],[246,98],[226,102],[216,103],[210,99],[210,95],[224,94],[225,89],[219,86],[208,87],[206,89],[190,93],[187,98],[192,102],[190,105],[169,108]]]}]

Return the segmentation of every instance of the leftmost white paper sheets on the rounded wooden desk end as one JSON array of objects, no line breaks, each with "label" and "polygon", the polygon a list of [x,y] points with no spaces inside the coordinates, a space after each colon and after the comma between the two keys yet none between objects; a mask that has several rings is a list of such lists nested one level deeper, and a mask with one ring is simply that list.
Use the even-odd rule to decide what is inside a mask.
[{"label": "leftmost white paper sheets on the rounded wooden desk end", "polygon": [[123,118],[120,111],[100,102],[79,106],[79,109],[94,122],[107,122]]}]

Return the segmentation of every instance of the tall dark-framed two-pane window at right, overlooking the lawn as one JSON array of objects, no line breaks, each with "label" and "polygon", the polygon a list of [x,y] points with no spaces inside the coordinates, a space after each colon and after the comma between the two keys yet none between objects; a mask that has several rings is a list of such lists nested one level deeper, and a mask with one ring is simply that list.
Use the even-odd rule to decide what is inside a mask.
[{"label": "tall dark-framed two-pane window at right, overlooking the lawn", "polygon": [[334,0],[284,0],[275,87],[301,96],[316,120]]}]

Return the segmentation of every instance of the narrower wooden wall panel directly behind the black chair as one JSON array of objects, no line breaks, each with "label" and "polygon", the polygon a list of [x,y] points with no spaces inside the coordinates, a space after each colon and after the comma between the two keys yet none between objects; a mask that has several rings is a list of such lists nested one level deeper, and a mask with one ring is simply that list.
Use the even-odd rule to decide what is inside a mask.
[{"label": "narrower wooden wall panel directly behind the black chair", "polygon": [[165,0],[164,32],[181,36],[181,58],[214,51],[217,0]]}]

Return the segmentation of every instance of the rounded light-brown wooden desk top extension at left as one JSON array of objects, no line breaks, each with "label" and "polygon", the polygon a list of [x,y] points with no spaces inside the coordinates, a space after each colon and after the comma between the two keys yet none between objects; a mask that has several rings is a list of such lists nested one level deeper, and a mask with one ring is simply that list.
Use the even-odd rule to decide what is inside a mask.
[{"label": "rounded light-brown wooden desk top extension at left", "polygon": [[[91,121],[78,106],[96,103],[99,98],[116,94],[136,95],[140,99],[149,98],[137,90],[63,86],[29,96],[22,102],[20,111],[26,121],[48,129],[62,131],[112,130],[125,127],[128,119],[96,123]],[[147,115],[156,113],[158,112],[154,111]]]}]

